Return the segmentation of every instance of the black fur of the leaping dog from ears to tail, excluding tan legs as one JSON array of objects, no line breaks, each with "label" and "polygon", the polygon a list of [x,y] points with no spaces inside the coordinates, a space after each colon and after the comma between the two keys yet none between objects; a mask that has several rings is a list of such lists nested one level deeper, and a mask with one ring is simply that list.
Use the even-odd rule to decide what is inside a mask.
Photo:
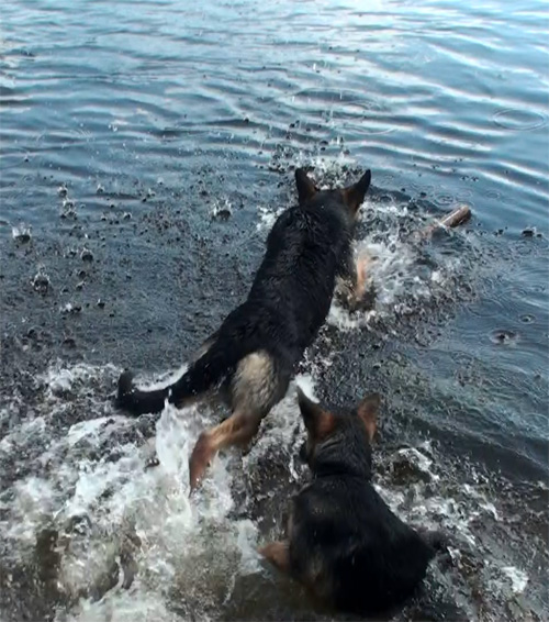
[{"label": "black fur of the leaping dog from ears to tail, excluding tan legs", "polygon": [[237,364],[257,351],[270,355],[277,380],[265,409],[284,397],[295,365],[326,319],[336,276],[349,271],[355,212],[370,184],[370,171],[351,189],[352,209],[340,190],[307,196],[306,185],[314,187],[303,169],[295,171],[295,178],[300,204],[276,221],[247,300],[212,335],[206,353],[165,389],[138,390],[125,371],[119,380],[119,406],[134,414],[160,412],[166,399],[178,406],[186,398],[220,389],[233,407],[231,380]]}]

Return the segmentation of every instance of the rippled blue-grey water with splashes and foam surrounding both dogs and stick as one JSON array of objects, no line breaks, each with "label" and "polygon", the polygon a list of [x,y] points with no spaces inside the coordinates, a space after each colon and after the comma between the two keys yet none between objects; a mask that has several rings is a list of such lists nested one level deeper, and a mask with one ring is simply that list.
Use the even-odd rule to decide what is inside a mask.
[{"label": "rippled blue-grey water with splashes and foam surrounding both dogs and stick", "polygon": [[[193,503],[222,413],[166,409],[147,443],[154,419],[111,402],[124,366],[177,370],[243,299],[310,165],[372,170],[376,303],[334,303],[300,382],[379,390],[380,492],[455,537],[394,619],[546,620],[547,3],[0,11],[1,619],[334,618],[255,553],[305,477],[294,386]],[[467,225],[414,237],[459,203]]]}]

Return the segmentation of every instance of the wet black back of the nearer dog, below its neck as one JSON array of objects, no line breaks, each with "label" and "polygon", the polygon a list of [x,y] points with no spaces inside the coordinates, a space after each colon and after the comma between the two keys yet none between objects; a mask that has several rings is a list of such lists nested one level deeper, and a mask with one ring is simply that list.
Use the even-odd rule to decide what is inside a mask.
[{"label": "wet black back of the nearer dog, below its neck", "polygon": [[372,614],[397,606],[424,579],[433,555],[358,477],[315,479],[294,501],[292,573],[337,609]]}]

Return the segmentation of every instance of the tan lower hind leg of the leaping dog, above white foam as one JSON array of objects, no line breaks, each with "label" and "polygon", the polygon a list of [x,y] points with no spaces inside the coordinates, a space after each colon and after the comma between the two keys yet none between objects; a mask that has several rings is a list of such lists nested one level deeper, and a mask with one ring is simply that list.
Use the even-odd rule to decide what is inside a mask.
[{"label": "tan lower hind leg of the leaping dog, above white foam", "polygon": [[202,432],[189,459],[191,491],[200,484],[217,452],[232,445],[247,445],[256,435],[261,419],[257,413],[237,411],[223,423]]}]

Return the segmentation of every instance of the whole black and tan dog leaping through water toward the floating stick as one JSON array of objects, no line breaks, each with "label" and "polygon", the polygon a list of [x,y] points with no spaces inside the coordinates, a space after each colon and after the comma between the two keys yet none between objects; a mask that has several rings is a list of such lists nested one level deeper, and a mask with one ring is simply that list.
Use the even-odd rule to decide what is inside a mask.
[{"label": "whole black and tan dog leaping through water toward the floating stick", "polygon": [[326,319],[336,279],[351,280],[360,298],[365,277],[355,265],[351,237],[370,177],[368,170],[354,186],[321,191],[298,169],[299,204],[269,233],[247,300],[206,340],[183,376],[144,391],[128,371],[122,374],[117,403],[134,414],[160,412],[166,399],[181,408],[212,393],[231,408],[232,416],[203,432],[194,446],[191,489],[217,451],[246,446],[285,396],[296,364]]}]

